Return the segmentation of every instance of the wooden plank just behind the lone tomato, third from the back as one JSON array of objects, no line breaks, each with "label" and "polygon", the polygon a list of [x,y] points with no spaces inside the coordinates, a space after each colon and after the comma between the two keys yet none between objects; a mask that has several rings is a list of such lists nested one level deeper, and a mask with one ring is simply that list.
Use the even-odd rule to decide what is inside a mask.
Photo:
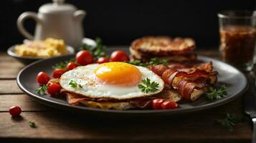
[{"label": "wooden plank just behind the lone tomato, third from the back", "polygon": [[0,112],[8,112],[9,107],[14,105],[21,107],[23,112],[39,112],[53,110],[50,107],[36,102],[34,99],[25,94],[0,95]]}]

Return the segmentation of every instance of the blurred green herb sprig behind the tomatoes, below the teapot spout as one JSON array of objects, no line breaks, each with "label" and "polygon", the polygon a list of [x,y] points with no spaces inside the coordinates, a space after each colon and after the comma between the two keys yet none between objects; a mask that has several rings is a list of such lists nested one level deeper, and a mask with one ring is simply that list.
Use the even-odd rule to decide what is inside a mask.
[{"label": "blurred green herb sprig behind the tomatoes, below the teapot spout", "polygon": [[82,49],[90,51],[90,54],[93,55],[94,59],[98,59],[100,56],[106,56],[105,54],[105,46],[102,44],[102,41],[100,38],[95,38],[96,45],[88,45],[83,44]]}]

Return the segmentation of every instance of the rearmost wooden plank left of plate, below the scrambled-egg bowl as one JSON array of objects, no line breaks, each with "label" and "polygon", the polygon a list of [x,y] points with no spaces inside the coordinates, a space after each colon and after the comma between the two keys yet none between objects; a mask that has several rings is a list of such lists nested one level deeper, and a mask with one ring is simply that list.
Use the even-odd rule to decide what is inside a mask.
[{"label": "rearmost wooden plank left of plate, below the scrambled-egg bowl", "polygon": [[0,79],[15,79],[23,67],[24,65],[16,59],[3,52],[0,53]]}]

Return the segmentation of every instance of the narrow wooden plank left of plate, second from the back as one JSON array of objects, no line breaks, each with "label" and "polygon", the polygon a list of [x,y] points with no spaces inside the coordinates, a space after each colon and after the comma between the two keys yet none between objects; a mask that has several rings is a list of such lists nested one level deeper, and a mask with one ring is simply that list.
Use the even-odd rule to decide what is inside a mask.
[{"label": "narrow wooden plank left of plate, second from the back", "polygon": [[16,80],[0,80],[0,94],[22,94]]}]

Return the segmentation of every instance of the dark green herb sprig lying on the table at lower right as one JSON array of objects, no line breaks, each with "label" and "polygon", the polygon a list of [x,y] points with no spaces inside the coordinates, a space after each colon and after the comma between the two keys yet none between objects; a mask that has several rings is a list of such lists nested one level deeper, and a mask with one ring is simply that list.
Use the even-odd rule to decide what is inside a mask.
[{"label": "dark green herb sprig lying on the table at lower right", "polygon": [[217,123],[226,128],[229,132],[234,130],[235,124],[243,122],[245,119],[243,117],[238,117],[236,114],[226,114],[224,119],[218,119]]}]

